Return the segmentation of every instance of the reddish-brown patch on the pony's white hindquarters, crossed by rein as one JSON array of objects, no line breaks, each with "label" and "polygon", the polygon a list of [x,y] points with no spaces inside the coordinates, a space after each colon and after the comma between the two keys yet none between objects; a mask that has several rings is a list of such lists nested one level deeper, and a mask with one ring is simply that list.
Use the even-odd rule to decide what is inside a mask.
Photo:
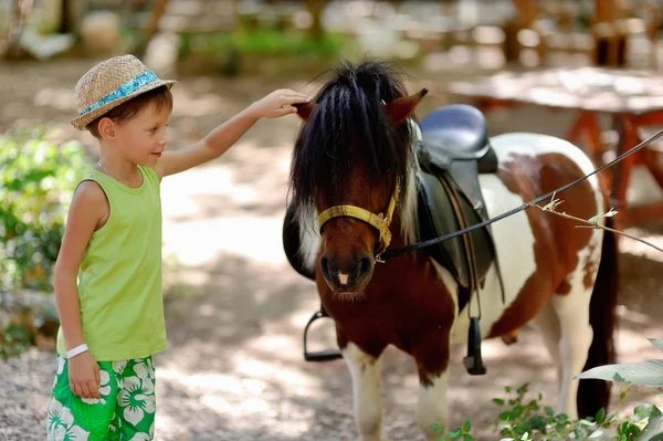
[{"label": "reddish-brown patch on the pony's white hindquarters, crossed by rein", "polygon": [[[525,201],[533,200],[585,176],[568,157],[544,154],[536,157],[512,155],[512,160],[501,166],[497,177]],[[538,179],[536,179],[538,177]],[[598,212],[590,183],[585,180],[556,196],[562,200],[560,208],[579,218],[589,219]],[[578,266],[578,252],[589,243],[591,229],[577,229],[575,222],[536,208],[526,210],[532,225],[536,271],[527,279],[514,303],[493,325],[491,337],[502,336],[522,327],[536,316]]]}]

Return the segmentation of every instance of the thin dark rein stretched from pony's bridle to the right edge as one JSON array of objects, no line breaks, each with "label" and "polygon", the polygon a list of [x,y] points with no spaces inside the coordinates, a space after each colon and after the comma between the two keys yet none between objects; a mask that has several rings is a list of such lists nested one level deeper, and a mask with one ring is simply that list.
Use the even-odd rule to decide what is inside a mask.
[{"label": "thin dark rein stretched from pony's bridle to the right edge", "polygon": [[583,181],[585,179],[589,178],[590,176],[596,175],[599,171],[603,171],[604,169],[607,169],[609,167],[612,167],[614,164],[619,162],[620,160],[622,160],[627,156],[629,156],[631,154],[634,154],[635,151],[638,151],[641,148],[645,147],[648,144],[651,144],[652,141],[656,140],[661,136],[663,136],[663,129],[659,130],[657,133],[655,133],[654,135],[652,135],[650,138],[643,140],[642,143],[640,143],[635,147],[631,148],[630,150],[624,151],[623,154],[621,154],[620,156],[618,156],[617,158],[614,158],[610,162],[608,162],[608,164],[599,167],[598,169],[596,169],[591,174],[589,174],[587,176],[583,176],[582,178],[576,179],[575,181],[572,181],[570,183],[567,183],[566,186],[560,187],[560,188],[558,188],[555,191],[550,191],[547,195],[540,196],[540,197],[538,197],[538,198],[536,198],[536,199],[534,199],[534,200],[532,200],[529,202],[526,202],[526,203],[522,204],[520,207],[517,207],[517,208],[515,208],[513,210],[509,210],[509,211],[507,211],[505,213],[496,216],[495,218],[491,218],[491,219],[488,219],[486,221],[483,221],[481,223],[476,223],[476,224],[474,224],[472,227],[469,227],[469,228],[465,228],[465,229],[462,229],[462,230],[459,230],[459,231],[455,231],[453,233],[449,233],[446,235],[442,235],[442,237],[439,237],[439,238],[435,238],[435,239],[430,239],[428,241],[411,243],[409,245],[403,245],[403,246],[399,246],[399,248],[393,248],[393,249],[390,249],[390,250],[386,250],[380,255],[380,258],[381,258],[381,260],[385,260],[385,259],[393,258],[393,256],[397,256],[397,255],[400,255],[400,254],[403,254],[403,253],[407,253],[407,252],[422,250],[422,249],[424,249],[427,246],[432,246],[432,245],[435,245],[438,243],[442,243],[442,242],[448,241],[450,239],[456,238],[456,237],[459,237],[461,234],[469,233],[469,232],[471,232],[473,230],[477,230],[480,228],[490,225],[493,222],[497,222],[498,220],[502,220],[504,218],[508,218],[509,216],[513,216],[513,214],[516,214],[516,213],[518,213],[520,211],[524,211],[527,208],[529,208],[530,206],[537,204],[539,202],[543,202],[546,199],[548,199],[550,197],[554,197],[556,193],[562,192],[564,190],[567,190],[567,189],[573,187],[576,183],[580,183],[581,181]]}]

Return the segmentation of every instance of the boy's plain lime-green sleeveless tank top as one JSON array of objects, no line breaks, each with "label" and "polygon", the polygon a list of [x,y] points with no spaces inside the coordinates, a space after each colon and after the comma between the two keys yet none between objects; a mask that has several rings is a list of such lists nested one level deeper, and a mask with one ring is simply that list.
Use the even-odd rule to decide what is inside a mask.
[{"label": "boy's plain lime-green sleeveless tank top", "polygon": [[[85,343],[97,361],[141,358],[166,349],[161,296],[161,199],[159,178],[138,166],[139,188],[97,170],[82,181],[102,187],[110,206],[78,270],[78,302]],[[57,353],[66,357],[62,328]]]}]

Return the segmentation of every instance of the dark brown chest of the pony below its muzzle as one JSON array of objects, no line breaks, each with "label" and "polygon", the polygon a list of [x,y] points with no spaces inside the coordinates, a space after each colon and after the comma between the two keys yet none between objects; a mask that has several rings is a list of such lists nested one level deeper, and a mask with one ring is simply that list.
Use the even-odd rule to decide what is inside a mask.
[{"label": "dark brown chest of the pony below its muzzle", "polygon": [[[391,230],[392,245],[403,245],[399,219],[393,220]],[[414,358],[420,384],[432,386],[433,379],[449,367],[455,312],[453,298],[436,274],[425,252],[392,258],[376,265],[365,300],[349,303],[335,297],[317,272],[317,287],[325,309],[336,323],[339,348],[352,342],[377,358],[392,344]]]}]

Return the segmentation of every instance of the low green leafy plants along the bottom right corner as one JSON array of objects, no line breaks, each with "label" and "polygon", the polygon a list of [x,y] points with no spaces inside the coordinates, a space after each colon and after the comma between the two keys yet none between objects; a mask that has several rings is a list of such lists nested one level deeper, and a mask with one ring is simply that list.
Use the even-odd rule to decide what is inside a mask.
[{"label": "low green leafy plants along the bottom right corner", "polygon": [[[541,406],[541,395],[537,399],[528,399],[528,385],[514,390],[505,388],[505,398],[494,398],[493,403],[501,409],[495,422],[499,441],[516,440],[606,440],[606,441],[663,441],[663,413],[652,405],[638,406],[629,419],[619,419],[615,414],[607,414],[599,410],[594,418],[571,420],[566,414],[556,414],[549,407]],[[623,403],[627,392],[621,393]],[[442,433],[438,441],[463,440],[474,441],[470,422],[462,428],[444,433],[433,424],[433,430]]]}]

